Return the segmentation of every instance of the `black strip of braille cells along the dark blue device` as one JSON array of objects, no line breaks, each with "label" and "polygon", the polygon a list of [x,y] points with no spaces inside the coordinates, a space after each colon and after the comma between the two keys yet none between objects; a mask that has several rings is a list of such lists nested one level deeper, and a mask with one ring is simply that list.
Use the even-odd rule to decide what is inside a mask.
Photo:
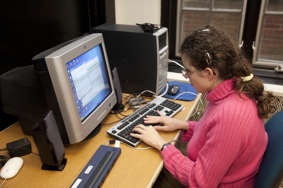
[{"label": "black strip of braille cells along the dark blue device", "polygon": [[99,165],[97,166],[97,168],[92,173],[91,177],[86,182],[86,185],[84,186],[84,188],[92,188],[97,183],[97,180],[99,179],[101,175],[103,175],[103,171],[106,170],[106,166],[112,159],[113,155],[114,155],[114,152],[110,152],[110,151],[108,151],[104,155],[103,159],[100,161]]}]

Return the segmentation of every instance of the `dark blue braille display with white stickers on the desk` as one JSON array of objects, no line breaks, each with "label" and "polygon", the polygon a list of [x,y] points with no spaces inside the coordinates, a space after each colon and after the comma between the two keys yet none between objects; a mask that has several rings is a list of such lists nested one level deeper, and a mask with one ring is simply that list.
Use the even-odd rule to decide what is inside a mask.
[{"label": "dark blue braille display with white stickers on the desk", "polygon": [[101,145],[70,188],[100,188],[120,154],[120,148]]}]

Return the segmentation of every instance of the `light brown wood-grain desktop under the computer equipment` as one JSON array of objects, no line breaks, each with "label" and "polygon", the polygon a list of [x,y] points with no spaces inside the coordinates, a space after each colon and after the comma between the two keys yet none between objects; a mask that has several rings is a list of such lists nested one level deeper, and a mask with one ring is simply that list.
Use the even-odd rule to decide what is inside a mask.
[{"label": "light brown wood-grain desktop under the computer equipment", "polygon": [[[191,109],[194,109],[197,101],[198,98],[192,102],[176,100],[176,102],[183,104],[186,109],[184,111],[180,111],[174,118],[188,119],[192,113]],[[126,113],[130,114],[132,111],[129,110],[128,112],[125,112],[125,114]],[[102,123],[106,124],[117,120],[118,118],[115,115],[108,114]],[[22,156],[21,158],[24,159],[24,165],[21,170],[14,178],[7,179],[2,185],[2,188],[70,187],[98,147],[113,139],[106,133],[106,131],[112,126],[113,124],[107,126],[103,125],[98,135],[89,140],[76,144],[65,144],[65,158],[68,161],[63,171],[41,170],[42,162],[39,156],[35,154]],[[159,133],[165,140],[169,141],[178,139],[181,131],[160,131]],[[38,153],[32,136],[22,132],[19,122],[0,132],[0,148],[6,148],[6,143],[21,139],[24,136],[29,138],[31,141],[32,151],[34,153]],[[110,144],[110,146],[114,146],[114,144]],[[145,147],[148,147],[148,145],[142,143],[137,148]],[[136,150],[126,146],[125,144],[120,144],[120,148],[121,155],[102,187],[152,187],[163,167],[163,160],[159,151],[156,149]],[[8,152],[0,151],[0,155],[8,156]],[[2,184],[3,181],[4,180],[0,178],[0,184]]]}]

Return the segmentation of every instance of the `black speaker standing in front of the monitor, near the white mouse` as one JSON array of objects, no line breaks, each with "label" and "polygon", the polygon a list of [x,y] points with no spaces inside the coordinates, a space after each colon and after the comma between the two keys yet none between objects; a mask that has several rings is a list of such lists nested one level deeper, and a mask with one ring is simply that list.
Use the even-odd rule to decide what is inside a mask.
[{"label": "black speaker standing in front of the monitor, near the white mouse", "polygon": [[51,110],[31,128],[31,135],[36,144],[42,170],[62,171],[67,163],[65,148]]}]

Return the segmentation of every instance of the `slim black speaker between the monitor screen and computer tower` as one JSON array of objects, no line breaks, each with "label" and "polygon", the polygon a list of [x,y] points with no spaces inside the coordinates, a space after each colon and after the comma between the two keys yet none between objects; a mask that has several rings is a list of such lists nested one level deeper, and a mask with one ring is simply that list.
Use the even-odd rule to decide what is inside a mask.
[{"label": "slim black speaker between the monitor screen and computer tower", "polygon": [[112,108],[112,110],[118,110],[118,109],[123,110],[125,106],[122,104],[123,95],[122,95],[122,90],[121,90],[121,85],[120,85],[120,81],[119,81],[117,68],[114,67],[114,69],[111,71],[111,73],[112,73],[115,93],[116,93],[116,97],[117,97],[117,103]]}]

